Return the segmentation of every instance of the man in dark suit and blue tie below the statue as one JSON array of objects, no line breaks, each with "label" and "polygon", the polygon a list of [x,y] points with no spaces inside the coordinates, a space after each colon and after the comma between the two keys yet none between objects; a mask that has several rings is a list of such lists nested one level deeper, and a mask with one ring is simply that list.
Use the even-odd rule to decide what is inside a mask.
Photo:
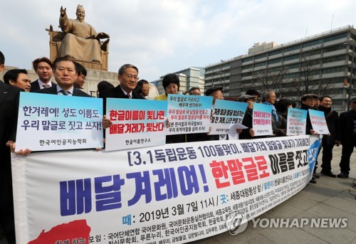
[{"label": "man in dark suit and blue tie below the statue", "polygon": [[73,60],[70,60],[70,58],[67,57],[56,58],[53,62],[53,68],[54,78],[56,79],[57,85],[37,90],[36,92],[75,97],[90,97],[90,95],[79,89],[75,89],[73,86],[78,77]]}]

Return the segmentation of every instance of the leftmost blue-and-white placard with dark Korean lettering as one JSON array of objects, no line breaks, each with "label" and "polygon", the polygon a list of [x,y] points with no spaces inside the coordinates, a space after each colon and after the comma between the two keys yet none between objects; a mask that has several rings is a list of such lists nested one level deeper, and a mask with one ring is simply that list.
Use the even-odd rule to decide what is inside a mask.
[{"label": "leftmost blue-and-white placard with dark Korean lettering", "polygon": [[101,98],[21,92],[16,148],[48,151],[103,147],[102,120]]}]

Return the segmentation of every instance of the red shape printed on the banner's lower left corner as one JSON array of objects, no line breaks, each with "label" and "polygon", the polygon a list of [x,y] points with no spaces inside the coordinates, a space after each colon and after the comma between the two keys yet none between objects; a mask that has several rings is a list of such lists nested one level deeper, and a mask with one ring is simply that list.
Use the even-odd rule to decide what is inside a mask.
[{"label": "red shape printed on the banner's lower left corner", "polygon": [[42,230],[38,238],[31,240],[28,244],[55,244],[57,240],[80,240],[80,238],[88,243],[90,235],[90,227],[87,225],[87,221],[78,220],[69,223],[63,223],[59,226],[51,228],[48,232]]}]

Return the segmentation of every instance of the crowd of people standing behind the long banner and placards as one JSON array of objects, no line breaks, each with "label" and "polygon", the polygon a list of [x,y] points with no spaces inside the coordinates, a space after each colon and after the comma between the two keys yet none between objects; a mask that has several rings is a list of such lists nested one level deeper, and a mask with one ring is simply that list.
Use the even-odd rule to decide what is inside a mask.
[{"label": "crowd of people standing behind the long banner and placards", "polygon": [[[0,72],[4,70],[5,58],[0,52]],[[4,74],[4,82],[0,81],[0,226],[3,229],[9,243],[15,242],[14,230],[14,206],[11,188],[11,157],[10,152],[16,151],[16,154],[26,155],[31,152],[30,149],[16,149],[16,124],[19,109],[20,92],[38,92],[53,95],[67,95],[90,97],[81,90],[85,83],[87,70],[68,57],[57,58],[53,63],[48,58],[37,58],[33,60],[33,69],[38,75],[38,79],[31,82],[27,71],[23,69],[12,69]],[[135,65],[125,64],[118,70],[117,80],[120,84],[116,87],[103,80],[98,83],[98,97],[103,98],[105,108],[105,98],[125,98],[125,99],[145,99],[150,92],[150,86],[147,80],[139,80],[139,70]],[[51,81],[54,77],[56,83]],[[162,80],[164,93],[155,97],[155,100],[167,100],[169,94],[179,94],[179,78],[176,74],[170,73],[164,76]],[[212,86],[205,90],[206,96],[213,97],[212,107],[216,100],[224,100],[224,89],[219,86]],[[187,91],[187,95],[201,95],[199,87],[192,87]],[[239,139],[254,139],[253,130],[253,104],[256,102],[272,107],[272,128],[271,137],[286,136],[288,108],[296,107],[295,100],[281,98],[276,100],[274,90],[265,90],[261,95],[256,90],[248,90],[244,95],[236,99],[237,102],[246,102],[247,109],[242,124],[246,129],[237,129]],[[350,156],[356,147],[356,98],[350,100],[350,111],[342,112],[339,115],[332,109],[332,97],[324,95],[318,97],[315,94],[305,94],[300,97],[300,110],[320,110],[325,114],[330,134],[325,135],[322,140],[323,157],[321,164],[321,174],[330,177],[336,177],[331,169],[331,160],[333,159],[333,147],[342,144],[342,157],[340,161],[340,174],[337,177],[348,178],[350,172]],[[105,111],[105,109],[104,109]],[[104,129],[110,127],[112,122],[105,116],[103,119]],[[307,116],[306,134],[316,134]],[[263,136],[266,137],[266,136]],[[227,135],[209,135],[208,133],[197,134],[178,134],[168,135],[166,143],[179,142],[201,142],[210,140],[224,140]],[[321,150],[320,150],[321,151]],[[314,171],[316,172],[317,166]],[[315,179],[319,176],[313,174],[311,183],[316,183]]]}]

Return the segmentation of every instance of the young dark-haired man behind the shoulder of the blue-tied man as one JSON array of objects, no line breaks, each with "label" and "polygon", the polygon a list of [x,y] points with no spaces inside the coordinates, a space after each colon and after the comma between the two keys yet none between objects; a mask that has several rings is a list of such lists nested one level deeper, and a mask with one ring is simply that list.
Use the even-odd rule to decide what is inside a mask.
[{"label": "young dark-haired man behind the shoulder of the blue-tied man", "polygon": [[35,70],[36,74],[38,75],[38,79],[31,82],[30,92],[56,85],[55,83],[51,82],[51,77],[53,75],[53,65],[51,60],[46,57],[37,58],[36,60],[33,60],[32,64],[33,70]]}]

